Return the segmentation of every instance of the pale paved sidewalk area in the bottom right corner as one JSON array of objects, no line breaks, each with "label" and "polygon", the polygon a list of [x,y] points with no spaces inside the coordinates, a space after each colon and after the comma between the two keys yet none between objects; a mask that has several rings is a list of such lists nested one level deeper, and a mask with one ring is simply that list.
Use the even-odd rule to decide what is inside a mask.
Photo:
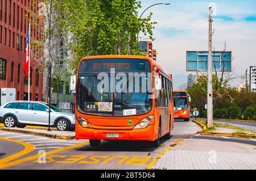
[{"label": "pale paved sidewalk area in the bottom right corner", "polygon": [[185,139],[166,151],[152,169],[256,169],[256,149],[234,142]]}]

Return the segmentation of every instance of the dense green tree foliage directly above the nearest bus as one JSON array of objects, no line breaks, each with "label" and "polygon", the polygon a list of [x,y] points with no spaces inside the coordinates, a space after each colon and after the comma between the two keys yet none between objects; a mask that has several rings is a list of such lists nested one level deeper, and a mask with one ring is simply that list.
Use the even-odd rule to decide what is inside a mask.
[{"label": "dense green tree foliage directly above the nearest bus", "polygon": [[137,33],[152,36],[155,22],[138,18],[141,3],[136,0],[65,0],[66,16],[73,20],[71,49],[76,67],[81,57],[104,54],[140,54]]}]

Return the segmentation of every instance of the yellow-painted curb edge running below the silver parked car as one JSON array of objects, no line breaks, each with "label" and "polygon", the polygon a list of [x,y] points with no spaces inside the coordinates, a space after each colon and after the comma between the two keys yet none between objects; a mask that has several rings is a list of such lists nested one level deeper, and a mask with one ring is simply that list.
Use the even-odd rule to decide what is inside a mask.
[{"label": "yellow-painted curb edge running below the silver parked car", "polygon": [[75,136],[61,136],[61,135],[58,135],[58,134],[39,133],[39,132],[9,129],[9,128],[0,128],[0,131],[30,134],[30,135],[34,135],[34,136],[43,136],[43,137],[54,138],[54,139],[62,139],[62,140],[73,140],[73,139],[75,139]]}]

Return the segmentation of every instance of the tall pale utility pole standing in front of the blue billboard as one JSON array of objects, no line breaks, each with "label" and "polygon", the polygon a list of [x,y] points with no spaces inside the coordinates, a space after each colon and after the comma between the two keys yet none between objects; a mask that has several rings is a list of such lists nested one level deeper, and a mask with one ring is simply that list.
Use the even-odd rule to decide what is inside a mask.
[{"label": "tall pale utility pole standing in front of the blue billboard", "polygon": [[209,7],[209,56],[208,56],[208,85],[207,85],[207,127],[213,127],[212,106],[212,7]]}]

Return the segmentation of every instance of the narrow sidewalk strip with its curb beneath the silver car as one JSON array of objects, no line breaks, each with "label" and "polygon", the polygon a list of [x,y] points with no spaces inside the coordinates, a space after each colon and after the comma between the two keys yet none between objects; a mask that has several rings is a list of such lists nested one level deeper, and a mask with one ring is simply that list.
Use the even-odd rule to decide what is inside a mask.
[{"label": "narrow sidewalk strip with its curb beneath the silver car", "polygon": [[0,131],[14,132],[14,133],[24,133],[31,134],[35,136],[44,136],[55,139],[65,139],[65,140],[73,140],[75,139],[75,132],[71,131],[57,131],[56,129],[51,128],[51,132],[47,131],[48,128],[41,127],[40,129],[36,128],[5,128],[1,127]]}]

